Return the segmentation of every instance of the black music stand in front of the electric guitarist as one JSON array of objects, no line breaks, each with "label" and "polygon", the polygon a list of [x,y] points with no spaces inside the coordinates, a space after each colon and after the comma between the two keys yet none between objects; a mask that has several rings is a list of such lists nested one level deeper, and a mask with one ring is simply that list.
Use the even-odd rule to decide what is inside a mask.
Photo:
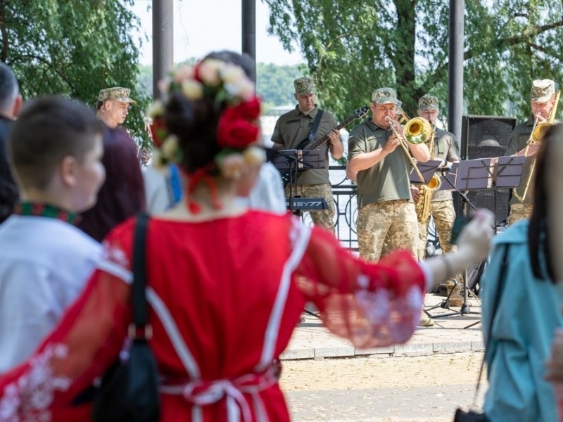
[{"label": "black music stand in front of the electric guitarist", "polygon": [[304,170],[324,168],[324,151],[322,150],[277,150],[274,151],[272,164],[279,172],[289,172],[289,210],[293,214],[301,215],[301,212],[293,211],[295,193],[297,191],[298,173]]}]

